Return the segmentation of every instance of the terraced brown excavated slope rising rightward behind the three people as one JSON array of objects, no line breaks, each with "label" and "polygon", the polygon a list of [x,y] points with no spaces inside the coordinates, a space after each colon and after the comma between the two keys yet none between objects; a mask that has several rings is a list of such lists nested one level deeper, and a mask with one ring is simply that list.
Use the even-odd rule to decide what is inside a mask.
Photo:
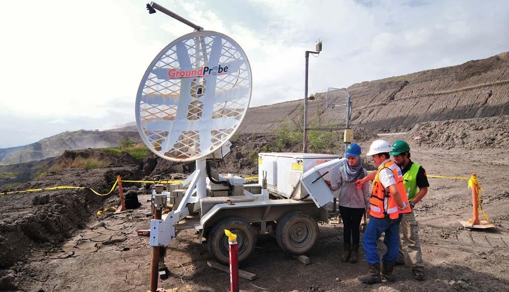
[{"label": "terraced brown excavated slope rising rightward behind the three people", "polygon": [[[348,87],[352,124],[379,132],[408,131],[419,122],[509,114],[509,52],[459,66],[366,81]],[[310,121],[332,121],[326,93],[309,101]],[[301,123],[303,100],[251,108],[241,133],[267,133],[281,120]]]}]

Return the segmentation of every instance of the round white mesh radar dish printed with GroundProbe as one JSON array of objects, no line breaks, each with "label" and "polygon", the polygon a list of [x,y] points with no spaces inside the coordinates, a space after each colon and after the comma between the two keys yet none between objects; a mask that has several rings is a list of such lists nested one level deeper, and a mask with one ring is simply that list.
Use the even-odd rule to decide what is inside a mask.
[{"label": "round white mesh radar dish printed with GroundProbe", "polygon": [[251,88],[251,67],[237,42],[215,31],[182,36],[154,58],[139,84],[139,135],[164,159],[204,158],[237,131]]}]

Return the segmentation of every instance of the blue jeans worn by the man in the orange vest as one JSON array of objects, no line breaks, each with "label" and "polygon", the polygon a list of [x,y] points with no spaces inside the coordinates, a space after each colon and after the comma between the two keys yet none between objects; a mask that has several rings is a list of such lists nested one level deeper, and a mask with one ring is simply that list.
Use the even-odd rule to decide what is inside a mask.
[{"label": "blue jeans worn by the man in the orange vest", "polygon": [[401,216],[394,220],[389,218],[370,218],[366,231],[362,236],[362,247],[364,248],[368,264],[380,264],[377,241],[384,232],[383,242],[387,246],[387,252],[384,254],[382,261],[389,264],[396,261],[400,250],[400,222]]}]

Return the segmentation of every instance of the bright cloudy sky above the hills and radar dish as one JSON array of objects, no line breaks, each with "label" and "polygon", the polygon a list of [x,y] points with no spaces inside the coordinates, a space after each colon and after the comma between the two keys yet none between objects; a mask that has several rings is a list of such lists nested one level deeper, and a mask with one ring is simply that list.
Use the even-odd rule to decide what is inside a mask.
[{"label": "bright cloudy sky above the hills and radar dish", "polygon": [[[0,148],[135,120],[139,82],[193,29],[144,1],[2,1]],[[233,38],[251,64],[250,106],[454,66],[509,51],[509,2],[191,1],[158,4]]]}]

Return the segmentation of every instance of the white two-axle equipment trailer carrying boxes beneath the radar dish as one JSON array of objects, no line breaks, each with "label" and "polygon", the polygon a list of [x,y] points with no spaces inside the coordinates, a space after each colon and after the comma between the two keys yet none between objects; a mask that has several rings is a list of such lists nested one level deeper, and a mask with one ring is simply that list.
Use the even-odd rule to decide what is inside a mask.
[{"label": "white two-axle equipment trailer carrying boxes beneath the radar dish", "polygon": [[304,254],[318,239],[318,222],[327,223],[337,216],[330,204],[337,193],[323,181],[335,172],[314,183],[310,179],[343,161],[330,154],[260,153],[258,184],[245,184],[241,177],[206,168],[204,198],[196,197],[195,191],[201,171],[193,172],[182,184],[154,188],[154,205],[167,202],[162,208],[171,211],[151,221],[150,245],[167,246],[178,232],[192,229],[200,242],[206,242],[212,257],[227,265],[228,238],[223,232],[227,229],[237,235],[239,262],[254,250],[257,236],[267,233],[285,252]]}]

